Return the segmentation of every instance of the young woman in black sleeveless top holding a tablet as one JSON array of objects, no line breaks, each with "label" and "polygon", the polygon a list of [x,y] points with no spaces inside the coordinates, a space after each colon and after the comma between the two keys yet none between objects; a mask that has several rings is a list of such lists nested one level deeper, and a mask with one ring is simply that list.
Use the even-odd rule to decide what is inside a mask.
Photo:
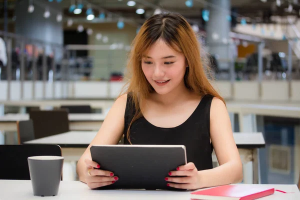
[{"label": "young woman in black sleeveless top holding a tablet", "polygon": [[[77,164],[90,188],[118,177],[91,160],[93,144],[183,144],[188,163],[165,177],[176,188],[236,183],[242,164],[222,97],[205,76],[195,33],[175,13],[149,17],[137,33],[128,62],[126,92],[109,110]],[[219,166],[212,168],[215,150]],[[128,155],[130,156],[130,155]],[[182,176],[182,177],[173,177]]]}]

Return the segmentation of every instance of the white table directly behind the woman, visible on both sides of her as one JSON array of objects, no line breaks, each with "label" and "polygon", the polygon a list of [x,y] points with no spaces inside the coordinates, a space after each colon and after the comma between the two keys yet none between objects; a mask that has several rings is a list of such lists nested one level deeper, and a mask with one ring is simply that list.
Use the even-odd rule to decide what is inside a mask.
[{"label": "white table directly behind the woman, visible on both sides of her", "polygon": [[[29,144],[58,144],[62,149],[62,156],[67,161],[78,160],[88,144],[96,135],[96,131],[69,131],[48,137],[34,139],[25,143]],[[264,147],[265,142],[261,132],[239,133],[234,132],[233,137],[243,163],[252,161],[249,175],[244,173],[245,183],[258,183],[258,153],[257,148]],[[217,162],[214,151],[212,160]]]}]

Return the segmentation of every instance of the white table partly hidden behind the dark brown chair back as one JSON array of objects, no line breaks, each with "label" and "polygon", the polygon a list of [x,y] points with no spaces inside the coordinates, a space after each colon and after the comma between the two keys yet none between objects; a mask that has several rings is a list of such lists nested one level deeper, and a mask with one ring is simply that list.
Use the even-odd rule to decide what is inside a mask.
[{"label": "white table partly hidden behind the dark brown chair back", "polygon": [[[71,130],[98,130],[105,118],[99,113],[70,113],[68,114]],[[0,116],[0,130],[16,131],[16,121],[28,120],[29,114],[5,114]]]}]

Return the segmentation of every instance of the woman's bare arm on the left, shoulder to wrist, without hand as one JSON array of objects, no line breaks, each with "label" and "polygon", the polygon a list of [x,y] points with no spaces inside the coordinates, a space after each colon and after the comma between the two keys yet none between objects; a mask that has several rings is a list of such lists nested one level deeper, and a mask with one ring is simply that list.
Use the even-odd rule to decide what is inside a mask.
[{"label": "woman's bare arm on the left, shoulder to wrist, without hand", "polygon": [[126,100],[127,94],[123,94],[115,100],[96,136],[78,160],[76,172],[80,181],[86,182],[84,177],[87,173],[87,168],[84,160],[91,159],[90,146],[93,144],[117,144],[119,142],[124,130]]}]

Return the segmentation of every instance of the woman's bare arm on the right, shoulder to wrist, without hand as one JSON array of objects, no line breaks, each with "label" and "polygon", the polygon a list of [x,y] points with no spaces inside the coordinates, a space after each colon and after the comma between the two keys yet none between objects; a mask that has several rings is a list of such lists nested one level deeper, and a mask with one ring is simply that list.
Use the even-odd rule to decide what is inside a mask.
[{"label": "woman's bare arm on the right, shoulder to wrist, without hand", "polygon": [[210,138],[219,163],[213,169],[198,171],[199,188],[242,180],[242,164],[233,139],[225,104],[214,97],[210,106]]}]

